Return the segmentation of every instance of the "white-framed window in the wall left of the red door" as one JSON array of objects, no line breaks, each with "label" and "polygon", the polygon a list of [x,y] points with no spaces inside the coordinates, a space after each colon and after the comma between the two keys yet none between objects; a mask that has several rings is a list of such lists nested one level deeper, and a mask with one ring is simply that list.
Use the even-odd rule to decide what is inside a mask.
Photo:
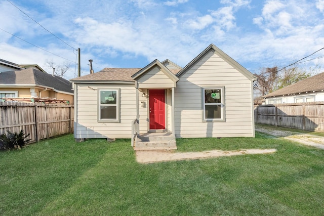
[{"label": "white-framed window in the wall left of the red door", "polygon": [[119,122],[119,89],[98,91],[98,121]]}]

